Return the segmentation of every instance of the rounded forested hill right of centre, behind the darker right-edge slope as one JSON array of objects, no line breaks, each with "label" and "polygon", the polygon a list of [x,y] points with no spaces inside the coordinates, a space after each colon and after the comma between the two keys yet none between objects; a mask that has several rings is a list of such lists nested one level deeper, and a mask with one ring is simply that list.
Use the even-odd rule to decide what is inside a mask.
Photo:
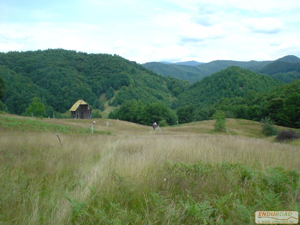
[{"label": "rounded forested hill right of centre, behind the darker right-edge slope", "polygon": [[203,78],[179,95],[180,105],[205,107],[221,98],[244,97],[248,91],[266,92],[283,83],[269,76],[232,66]]}]

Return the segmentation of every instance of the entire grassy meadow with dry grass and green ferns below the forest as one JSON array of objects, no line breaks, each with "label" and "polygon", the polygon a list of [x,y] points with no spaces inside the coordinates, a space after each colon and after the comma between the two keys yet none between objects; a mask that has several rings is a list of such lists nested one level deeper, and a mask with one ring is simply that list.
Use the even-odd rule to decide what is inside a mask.
[{"label": "entire grassy meadow with dry grass and green ferns below the forest", "polygon": [[299,142],[265,138],[258,122],[159,132],[95,119],[92,135],[93,120],[0,115],[1,225],[255,224],[255,211],[300,211]]}]

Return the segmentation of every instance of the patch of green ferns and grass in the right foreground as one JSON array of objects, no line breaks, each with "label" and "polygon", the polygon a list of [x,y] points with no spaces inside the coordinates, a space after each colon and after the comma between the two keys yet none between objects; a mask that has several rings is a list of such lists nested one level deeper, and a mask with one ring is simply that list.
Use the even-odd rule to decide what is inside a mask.
[{"label": "patch of green ferns and grass in the right foreground", "polygon": [[113,172],[116,185],[105,196],[103,190],[90,188],[89,202],[68,198],[73,222],[254,224],[256,210],[300,210],[295,201],[298,170],[166,162],[160,175],[155,186],[145,188],[147,182],[132,182]]}]

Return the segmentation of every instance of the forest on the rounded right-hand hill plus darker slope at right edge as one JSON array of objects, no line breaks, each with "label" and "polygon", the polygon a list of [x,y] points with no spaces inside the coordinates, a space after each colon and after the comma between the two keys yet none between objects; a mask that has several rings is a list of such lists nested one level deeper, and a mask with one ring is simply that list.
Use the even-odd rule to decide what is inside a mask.
[{"label": "forest on the rounded right-hand hill plus darker slope at right edge", "polygon": [[299,79],[282,85],[268,76],[229,67],[195,83],[179,99],[179,123],[212,119],[216,111],[223,111],[226,118],[270,117],[277,125],[300,128]]}]

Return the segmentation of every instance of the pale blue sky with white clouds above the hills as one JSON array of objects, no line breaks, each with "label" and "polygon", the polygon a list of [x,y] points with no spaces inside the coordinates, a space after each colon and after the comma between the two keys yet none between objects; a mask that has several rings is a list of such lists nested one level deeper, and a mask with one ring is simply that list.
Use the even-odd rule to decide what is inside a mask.
[{"label": "pale blue sky with white clouds above the hills", "polygon": [[0,0],[0,52],[70,49],[151,61],[300,57],[299,0]]}]

